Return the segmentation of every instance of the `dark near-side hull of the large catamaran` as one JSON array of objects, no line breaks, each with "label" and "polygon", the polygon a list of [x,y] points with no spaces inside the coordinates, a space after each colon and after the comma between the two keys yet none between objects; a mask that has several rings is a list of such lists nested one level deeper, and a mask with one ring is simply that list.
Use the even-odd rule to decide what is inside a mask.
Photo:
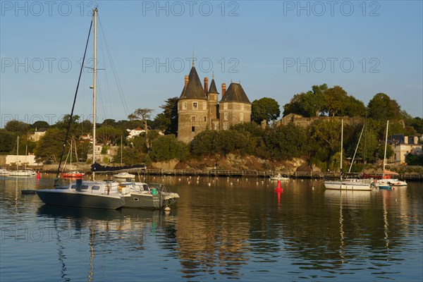
[{"label": "dark near-side hull of the large catamaran", "polygon": [[37,190],[37,195],[45,204],[71,207],[118,209],[125,203],[122,197],[82,194],[81,192],[67,192],[60,189]]}]

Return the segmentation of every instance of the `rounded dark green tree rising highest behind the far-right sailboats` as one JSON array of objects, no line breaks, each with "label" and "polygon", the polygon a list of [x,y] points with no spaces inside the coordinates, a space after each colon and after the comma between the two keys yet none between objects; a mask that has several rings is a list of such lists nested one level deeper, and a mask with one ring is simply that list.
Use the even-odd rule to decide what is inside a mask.
[{"label": "rounded dark green tree rising highest behind the far-right sailboats", "polygon": [[396,120],[401,118],[401,108],[396,100],[384,93],[378,93],[367,104],[369,118],[375,120]]}]

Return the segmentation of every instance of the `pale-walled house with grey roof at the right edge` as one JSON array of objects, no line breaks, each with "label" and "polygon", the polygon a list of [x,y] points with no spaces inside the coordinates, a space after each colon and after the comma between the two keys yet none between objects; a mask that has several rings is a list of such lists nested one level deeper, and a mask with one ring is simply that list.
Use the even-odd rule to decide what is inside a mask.
[{"label": "pale-walled house with grey roof at the right edge", "polygon": [[390,137],[393,156],[389,159],[391,163],[405,164],[405,156],[408,153],[423,154],[423,136],[413,135],[405,136],[396,134]]}]

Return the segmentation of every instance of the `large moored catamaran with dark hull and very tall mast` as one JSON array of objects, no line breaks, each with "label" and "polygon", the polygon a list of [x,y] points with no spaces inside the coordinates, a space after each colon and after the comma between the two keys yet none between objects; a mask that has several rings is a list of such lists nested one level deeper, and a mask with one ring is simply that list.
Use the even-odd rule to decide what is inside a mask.
[{"label": "large moored catamaran with dark hull and very tall mast", "polygon": [[[54,185],[54,189],[37,190],[37,195],[46,204],[58,204],[73,207],[90,207],[103,209],[118,209],[120,207],[150,208],[161,209],[164,202],[168,202],[167,198],[176,199],[179,197],[176,193],[161,191],[157,189],[146,188],[145,185],[135,182],[118,182],[118,181],[96,181],[95,173],[97,171],[97,163],[95,162],[95,142],[96,142],[96,77],[97,77],[97,8],[94,8],[92,23],[94,23],[94,67],[93,67],[93,128],[92,128],[92,179],[77,179],[67,185]],[[91,27],[90,27],[91,31]],[[87,47],[85,47],[85,54]],[[82,73],[82,59],[80,76]],[[79,82],[78,82],[79,85]],[[78,86],[77,91],[78,92]],[[76,99],[75,93],[75,99]],[[75,106],[75,99],[73,107]],[[71,111],[72,120],[73,109]],[[69,130],[70,126],[68,126]],[[66,133],[65,142],[68,136]],[[63,158],[64,148],[61,159]],[[60,164],[56,176],[58,180]],[[144,166],[145,167],[145,166]],[[99,171],[99,170],[98,170]]]}]

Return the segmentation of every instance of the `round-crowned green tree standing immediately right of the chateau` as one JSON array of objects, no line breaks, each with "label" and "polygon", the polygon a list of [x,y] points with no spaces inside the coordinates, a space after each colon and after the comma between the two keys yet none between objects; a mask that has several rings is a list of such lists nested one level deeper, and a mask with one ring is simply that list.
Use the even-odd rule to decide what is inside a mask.
[{"label": "round-crowned green tree standing immediately right of the chateau", "polygon": [[281,115],[281,109],[275,99],[262,98],[254,100],[251,105],[251,119],[257,124],[266,120],[267,123],[276,120]]}]

